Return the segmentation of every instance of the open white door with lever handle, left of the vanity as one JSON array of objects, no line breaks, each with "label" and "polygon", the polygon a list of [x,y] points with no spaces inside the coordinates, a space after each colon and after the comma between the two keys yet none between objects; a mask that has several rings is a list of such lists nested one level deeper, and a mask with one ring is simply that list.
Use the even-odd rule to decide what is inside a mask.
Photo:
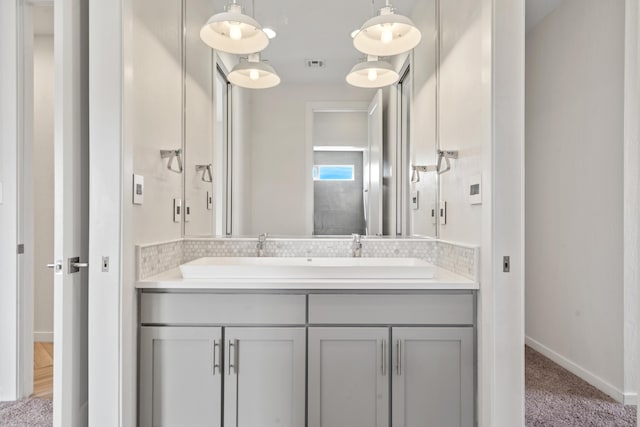
[{"label": "open white door with lever handle, left of the vanity", "polygon": [[87,425],[88,2],[55,0],[53,417]]}]

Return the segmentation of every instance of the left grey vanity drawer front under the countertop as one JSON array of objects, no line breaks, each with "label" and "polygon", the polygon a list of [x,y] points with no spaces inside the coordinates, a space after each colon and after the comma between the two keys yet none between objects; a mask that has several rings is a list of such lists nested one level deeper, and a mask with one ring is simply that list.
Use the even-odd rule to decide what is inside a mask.
[{"label": "left grey vanity drawer front under the countertop", "polygon": [[143,293],[144,324],[303,325],[304,295]]}]

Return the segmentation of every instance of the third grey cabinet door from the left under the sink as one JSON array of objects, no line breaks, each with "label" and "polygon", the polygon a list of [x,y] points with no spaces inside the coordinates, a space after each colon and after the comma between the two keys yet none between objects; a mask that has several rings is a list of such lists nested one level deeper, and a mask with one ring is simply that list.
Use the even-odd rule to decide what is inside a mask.
[{"label": "third grey cabinet door from the left under the sink", "polygon": [[388,328],[309,328],[309,427],[389,425]]}]

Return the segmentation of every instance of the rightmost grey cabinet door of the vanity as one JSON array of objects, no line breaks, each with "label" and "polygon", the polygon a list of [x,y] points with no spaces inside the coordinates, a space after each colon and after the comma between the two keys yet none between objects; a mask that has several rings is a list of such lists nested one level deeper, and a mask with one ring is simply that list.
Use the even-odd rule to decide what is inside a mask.
[{"label": "rightmost grey cabinet door of the vanity", "polygon": [[473,426],[473,328],[393,328],[392,336],[392,427]]}]

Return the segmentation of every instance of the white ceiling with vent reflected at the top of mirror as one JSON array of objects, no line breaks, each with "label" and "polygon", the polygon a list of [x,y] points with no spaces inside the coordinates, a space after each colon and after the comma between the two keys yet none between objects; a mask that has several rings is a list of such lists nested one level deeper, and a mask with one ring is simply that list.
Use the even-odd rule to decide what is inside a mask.
[{"label": "white ceiling with vent reflected at the top of mirror", "polygon": [[[394,0],[398,13],[410,15],[416,1]],[[229,1],[214,0],[216,13]],[[353,47],[350,34],[372,16],[371,0],[238,0],[245,13],[254,15],[263,27],[278,36],[262,52],[283,82],[337,82],[344,78],[363,55]],[[384,0],[374,0],[374,14]],[[203,17],[203,23],[209,17]],[[305,59],[323,59],[322,69],[305,68]]]}]

